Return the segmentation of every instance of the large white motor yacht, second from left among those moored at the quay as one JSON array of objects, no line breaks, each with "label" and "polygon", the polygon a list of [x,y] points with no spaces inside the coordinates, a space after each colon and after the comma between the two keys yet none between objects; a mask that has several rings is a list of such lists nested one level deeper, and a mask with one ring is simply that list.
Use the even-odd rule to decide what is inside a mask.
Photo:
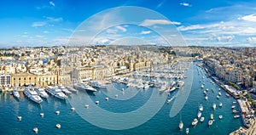
[{"label": "large white motor yacht, second from left among those moored at the quay", "polygon": [[40,104],[43,102],[43,99],[38,96],[38,93],[34,91],[32,87],[26,87],[23,93],[27,98],[31,99],[33,102],[37,104]]}]

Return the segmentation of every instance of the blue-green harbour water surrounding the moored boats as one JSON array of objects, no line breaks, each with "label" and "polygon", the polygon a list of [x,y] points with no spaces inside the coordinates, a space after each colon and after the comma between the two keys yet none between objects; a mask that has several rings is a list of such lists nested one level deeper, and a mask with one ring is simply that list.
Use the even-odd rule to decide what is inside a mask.
[{"label": "blue-green harbour water surrounding the moored boats", "polygon": [[[198,64],[200,62],[193,62],[189,67],[187,72],[190,74],[185,74],[187,78],[184,80],[183,88],[169,95],[160,94],[158,89],[153,87],[149,87],[148,90],[129,89],[125,84],[117,82],[113,82],[112,85],[119,91],[112,91],[110,88],[108,90],[99,89],[97,92],[89,94],[79,91],[79,93],[70,95],[67,100],[49,96],[41,104],[33,103],[24,97],[22,92],[20,92],[20,99],[14,98],[8,92],[0,92],[0,134],[181,135],[185,134],[186,128],[189,128],[189,134],[192,135],[227,135],[241,127],[241,118],[234,119],[231,109],[236,100],[227,97],[224,89],[213,83],[205,71],[197,66]],[[188,87],[189,82],[192,86]],[[201,88],[202,83],[204,83],[203,88]],[[205,99],[203,93],[207,88],[209,89],[208,100]],[[222,95],[218,99],[216,96],[219,88]],[[212,93],[212,89],[214,93]],[[179,93],[179,91],[183,91],[183,93]],[[184,98],[184,104],[180,105],[180,109],[175,108],[175,104],[178,104],[176,102],[180,102],[177,100],[178,96],[183,96],[181,94],[185,93],[188,94],[188,98]],[[105,99],[106,97],[109,97],[108,101]],[[154,101],[148,102],[148,100],[152,100],[152,97],[155,97]],[[166,98],[172,99],[170,104],[166,104]],[[92,102],[89,103],[89,100]],[[164,104],[159,104],[158,100],[164,100]],[[91,104],[95,101],[99,101],[99,104]],[[212,109],[213,103],[217,104],[216,110]],[[223,106],[219,107],[219,103],[223,103]],[[90,104],[90,106],[85,108],[85,104]],[[205,121],[198,122],[195,127],[192,127],[191,123],[197,118],[200,104],[204,108],[202,116],[205,117]],[[139,112],[146,105],[149,106],[144,109],[147,113],[141,112],[144,116],[137,113],[137,115],[129,117],[130,112]],[[71,110],[72,107],[75,107],[75,110]],[[55,114],[57,110],[60,111],[59,115]],[[102,110],[107,110],[110,114],[109,117],[112,118],[114,114],[117,114],[116,120],[108,120],[108,115]],[[170,116],[171,110],[178,110],[178,112],[176,115]],[[237,104],[235,110],[239,110]],[[40,113],[44,113],[44,117],[41,117]],[[119,114],[124,114],[124,117]],[[214,122],[209,127],[208,121],[211,114],[214,115]],[[17,119],[18,115],[22,116],[21,121]],[[219,120],[218,115],[223,115],[223,119]],[[183,121],[182,130],[178,128],[180,121]],[[139,124],[132,125],[129,122]],[[56,128],[56,124],[60,124],[61,128]],[[34,127],[38,127],[37,133],[33,132]]]}]

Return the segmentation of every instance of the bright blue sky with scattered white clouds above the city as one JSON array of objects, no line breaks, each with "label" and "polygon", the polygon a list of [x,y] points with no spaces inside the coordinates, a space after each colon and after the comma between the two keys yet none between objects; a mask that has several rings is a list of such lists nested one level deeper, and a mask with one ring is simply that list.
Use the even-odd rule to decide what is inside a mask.
[{"label": "bright blue sky with scattered white clouds above the city", "polygon": [[[127,13],[126,6],[139,8]],[[186,45],[256,47],[255,7],[255,0],[1,1],[0,48],[60,46],[73,39],[175,46],[178,34]]]}]

